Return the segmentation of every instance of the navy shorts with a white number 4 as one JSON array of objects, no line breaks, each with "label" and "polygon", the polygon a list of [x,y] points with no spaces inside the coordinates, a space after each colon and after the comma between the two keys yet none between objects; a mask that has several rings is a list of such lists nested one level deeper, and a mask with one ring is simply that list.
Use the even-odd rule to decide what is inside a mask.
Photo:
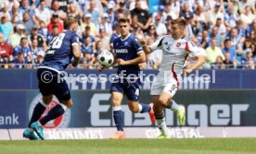
[{"label": "navy shorts with a white number 4", "polygon": [[117,91],[126,95],[129,101],[139,101],[140,86],[140,79],[135,79],[134,82],[131,83],[127,79],[115,78],[110,91]]}]

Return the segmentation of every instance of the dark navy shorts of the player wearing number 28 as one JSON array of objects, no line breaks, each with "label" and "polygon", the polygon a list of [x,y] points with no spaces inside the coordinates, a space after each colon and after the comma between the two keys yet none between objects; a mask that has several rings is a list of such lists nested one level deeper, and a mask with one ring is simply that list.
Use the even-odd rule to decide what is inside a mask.
[{"label": "dark navy shorts of the player wearing number 28", "polygon": [[39,68],[37,70],[38,87],[43,96],[55,95],[58,101],[70,100],[70,89],[67,82],[60,79],[61,76],[50,69]]}]

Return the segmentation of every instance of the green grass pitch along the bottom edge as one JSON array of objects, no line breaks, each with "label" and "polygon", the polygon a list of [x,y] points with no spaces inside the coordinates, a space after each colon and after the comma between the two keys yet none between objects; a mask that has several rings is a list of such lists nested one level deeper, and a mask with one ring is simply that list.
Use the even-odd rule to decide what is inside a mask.
[{"label": "green grass pitch along the bottom edge", "polygon": [[246,154],[256,138],[0,141],[1,154]]}]

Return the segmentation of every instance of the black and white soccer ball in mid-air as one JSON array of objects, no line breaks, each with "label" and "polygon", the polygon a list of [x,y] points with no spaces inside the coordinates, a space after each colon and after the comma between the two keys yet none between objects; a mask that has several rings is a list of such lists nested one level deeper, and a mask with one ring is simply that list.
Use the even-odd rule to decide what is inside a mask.
[{"label": "black and white soccer ball in mid-air", "polygon": [[97,55],[97,61],[103,67],[109,67],[114,62],[114,56],[109,51],[103,51]]}]

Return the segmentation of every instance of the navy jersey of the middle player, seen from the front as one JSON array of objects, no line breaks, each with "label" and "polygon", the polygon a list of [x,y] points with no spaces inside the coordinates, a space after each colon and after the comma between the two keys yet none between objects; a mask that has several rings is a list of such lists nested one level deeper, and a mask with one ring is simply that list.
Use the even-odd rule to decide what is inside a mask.
[{"label": "navy jersey of the middle player, seen from the front", "polygon": [[[125,40],[118,37],[113,41],[113,46],[116,58],[125,61],[137,58],[138,54],[143,52],[140,42],[133,34],[129,34]],[[123,72],[124,74],[121,73],[122,71],[125,71]],[[117,74],[123,77],[127,77],[131,74],[138,76],[139,71],[139,65],[118,65]]]}]

